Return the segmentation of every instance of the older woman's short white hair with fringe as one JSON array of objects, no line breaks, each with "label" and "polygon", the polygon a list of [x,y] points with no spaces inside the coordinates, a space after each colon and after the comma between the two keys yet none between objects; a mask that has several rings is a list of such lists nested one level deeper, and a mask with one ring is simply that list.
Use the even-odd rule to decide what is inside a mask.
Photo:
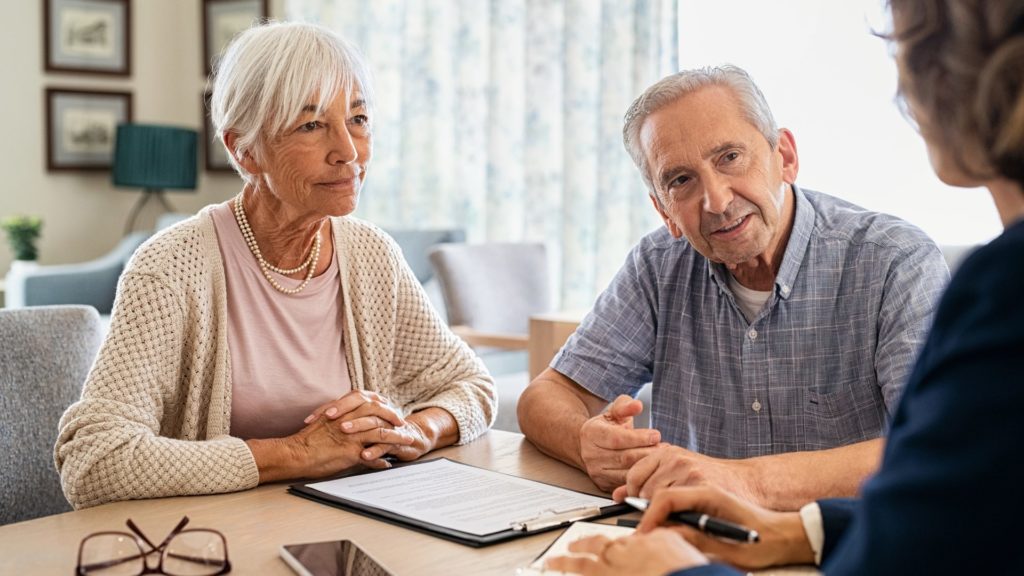
[{"label": "older woman's short white hair with fringe", "polygon": [[[236,151],[259,160],[316,99],[326,108],[343,92],[359,91],[373,107],[370,71],[358,49],[338,33],[304,23],[268,23],[243,32],[227,46],[212,80],[210,117],[217,139],[238,135]],[[234,169],[250,174],[229,154]]]}]

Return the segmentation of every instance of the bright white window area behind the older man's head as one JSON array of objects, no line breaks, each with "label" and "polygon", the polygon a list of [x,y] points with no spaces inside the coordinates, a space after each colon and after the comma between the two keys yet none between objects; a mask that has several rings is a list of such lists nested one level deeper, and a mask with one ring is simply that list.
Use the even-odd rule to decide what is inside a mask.
[{"label": "bright white window area behind the older man's head", "polygon": [[905,218],[940,244],[1001,225],[983,190],[940,182],[894,104],[880,0],[680,0],[680,65],[731,63],[754,77],[800,152],[798,183]]}]

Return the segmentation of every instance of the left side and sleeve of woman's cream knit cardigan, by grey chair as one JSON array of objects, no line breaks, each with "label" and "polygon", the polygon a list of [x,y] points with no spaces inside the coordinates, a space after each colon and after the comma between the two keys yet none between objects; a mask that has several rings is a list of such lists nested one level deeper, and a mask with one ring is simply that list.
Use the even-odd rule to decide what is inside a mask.
[{"label": "left side and sleeve of woman's cream knit cardigan, by grey chair", "polygon": [[[245,442],[214,429],[226,427],[223,414],[214,413],[223,407],[225,379],[219,374],[221,384],[214,383],[214,298],[173,283],[179,262],[204,268],[193,237],[174,250],[160,246],[173,238],[158,240],[133,258],[82,398],[60,418],[54,458],[76,508],[230,492],[259,482]],[[195,288],[203,274],[184,284]]]}]

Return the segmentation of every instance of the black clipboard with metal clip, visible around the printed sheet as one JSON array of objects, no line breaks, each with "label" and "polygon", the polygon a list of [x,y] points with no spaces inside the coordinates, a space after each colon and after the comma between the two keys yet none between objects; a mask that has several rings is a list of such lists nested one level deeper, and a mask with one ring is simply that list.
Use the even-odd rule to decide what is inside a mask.
[{"label": "black clipboard with metal clip, visible around the printed sheet", "polygon": [[[395,466],[394,468],[389,468],[386,470],[370,470],[356,475],[348,475],[344,478],[347,479],[353,477],[382,475],[382,474],[387,474],[389,470],[393,470],[399,467],[408,468],[410,466],[419,466],[438,461],[444,461],[451,464],[457,464],[459,466],[466,466],[468,468],[483,470],[488,475],[500,475],[502,477],[507,477],[509,479],[515,479],[515,482],[517,483],[529,483],[538,487],[546,487],[548,489],[555,489],[559,491],[565,491],[567,493],[604,499],[604,497],[593,496],[591,494],[587,494],[585,492],[581,492],[578,490],[569,490],[567,488],[562,488],[552,484],[526,480],[512,475],[498,472],[495,470],[488,470],[486,468],[474,466],[472,464],[456,462],[447,458],[432,458],[429,460],[422,460],[417,462],[411,462],[408,464],[401,464],[399,466]],[[290,494],[294,494],[302,498],[307,498],[309,500],[313,500],[322,504],[335,506],[338,508],[358,513],[360,516],[373,518],[375,520],[387,522],[395,526],[409,528],[411,530],[416,530],[417,532],[422,532],[424,534],[429,534],[431,536],[443,538],[445,540],[451,540],[453,542],[458,542],[460,544],[473,547],[488,546],[500,542],[514,540],[516,538],[522,538],[524,536],[530,536],[534,534],[540,534],[542,532],[557,530],[579,520],[596,520],[600,518],[617,516],[633,511],[633,508],[630,507],[628,504],[615,504],[615,503],[611,503],[608,505],[573,506],[565,509],[545,508],[543,510],[526,511],[524,512],[522,518],[518,518],[513,523],[510,523],[510,526],[508,528],[480,535],[480,534],[466,532],[463,530],[458,530],[440,524],[425,522],[417,518],[411,518],[409,516],[395,512],[394,510],[389,510],[383,507],[370,505],[365,502],[353,500],[351,498],[345,498],[337,496],[335,494],[330,494],[322,490],[318,490],[316,488],[312,488],[312,485],[316,484],[322,484],[322,482],[317,481],[305,484],[293,484],[289,486],[288,492]]]}]

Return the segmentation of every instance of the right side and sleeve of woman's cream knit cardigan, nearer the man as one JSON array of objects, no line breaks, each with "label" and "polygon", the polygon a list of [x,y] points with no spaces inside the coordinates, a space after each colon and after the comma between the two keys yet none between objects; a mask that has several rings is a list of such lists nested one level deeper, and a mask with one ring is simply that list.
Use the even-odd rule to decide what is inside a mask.
[{"label": "right side and sleeve of woman's cream knit cardigan, nearer the man", "polygon": [[356,218],[335,230],[346,258],[349,330],[358,341],[349,358],[353,382],[384,394],[407,415],[442,408],[459,424],[459,444],[485,433],[497,417],[494,380],[437,315],[401,250]]}]

